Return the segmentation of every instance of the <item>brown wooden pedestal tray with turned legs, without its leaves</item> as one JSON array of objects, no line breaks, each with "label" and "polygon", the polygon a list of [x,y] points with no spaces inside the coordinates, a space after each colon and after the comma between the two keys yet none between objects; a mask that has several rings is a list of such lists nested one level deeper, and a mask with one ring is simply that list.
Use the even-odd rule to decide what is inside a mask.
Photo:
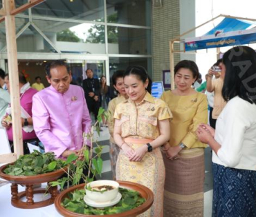
[{"label": "brown wooden pedestal tray with turned legs, without its leaves", "polygon": [[[10,163],[13,164],[13,163]],[[8,164],[8,165],[10,165]],[[57,180],[64,174],[64,169],[58,169],[54,172],[48,172],[46,174],[39,174],[36,176],[10,176],[5,174],[3,171],[6,169],[8,165],[3,165],[0,167],[0,177],[8,180],[11,185],[11,194],[12,199],[11,203],[14,207],[22,208],[22,209],[34,209],[39,207],[46,207],[54,203],[55,198],[59,194],[57,190],[57,186],[49,187],[47,192],[44,188],[33,189],[33,185],[38,185],[41,183],[49,183],[53,180]],[[26,190],[24,192],[18,192],[18,185],[26,185]],[[49,193],[51,194],[51,198],[47,200],[34,202],[33,197],[34,194],[42,194]],[[21,198],[26,196],[26,202],[21,201]]]}]

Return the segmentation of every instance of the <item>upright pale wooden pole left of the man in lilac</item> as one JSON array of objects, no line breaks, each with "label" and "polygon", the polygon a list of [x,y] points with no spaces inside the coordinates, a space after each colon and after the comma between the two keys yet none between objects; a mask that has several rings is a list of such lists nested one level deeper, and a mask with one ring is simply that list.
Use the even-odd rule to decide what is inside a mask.
[{"label": "upright pale wooden pole left of the man in lilac", "polygon": [[17,43],[15,32],[15,16],[10,12],[15,9],[14,0],[3,0],[6,11],[6,45],[8,55],[8,69],[10,81],[10,103],[12,106],[12,134],[14,151],[17,158],[24,154],[21,131],[21,103],[19,98],[19,71],[17,60]]}]

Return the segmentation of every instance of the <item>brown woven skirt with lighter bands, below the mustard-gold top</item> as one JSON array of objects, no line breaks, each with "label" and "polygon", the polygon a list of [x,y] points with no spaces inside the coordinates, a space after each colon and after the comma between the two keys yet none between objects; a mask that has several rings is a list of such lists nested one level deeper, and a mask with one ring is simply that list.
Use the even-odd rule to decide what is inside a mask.
[{"label": "brown woven skirt with lighter bands, below the mustard-gold top", "polygon": [[164,216],[203,216],[204,149],[183,149],[165,163]]}]

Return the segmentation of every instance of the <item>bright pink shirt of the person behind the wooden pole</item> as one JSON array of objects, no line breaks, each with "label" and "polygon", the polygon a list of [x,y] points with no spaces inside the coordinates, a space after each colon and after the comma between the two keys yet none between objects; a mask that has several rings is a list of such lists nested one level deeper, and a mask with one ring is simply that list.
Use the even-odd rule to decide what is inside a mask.
[{"label": "bright pink shirt of the person behind the wooden pole", "polygon": [[[32,116],[32,98],[36,93],[37,90],[29,88],[28,90],[26,90],[26,92],[24,92],[24,94],[21,94],[21,106],[24,108],[24,110],[26,110],[26,112],[28,112],[30,116]],[[7,134],[8,139],[10,141],[13,141],[12,127],[7,130]],[[23,140],[29,140],[33,138],[37,138],[34,130],[32,132],[25,132],[24,130],[22,130]]]}]

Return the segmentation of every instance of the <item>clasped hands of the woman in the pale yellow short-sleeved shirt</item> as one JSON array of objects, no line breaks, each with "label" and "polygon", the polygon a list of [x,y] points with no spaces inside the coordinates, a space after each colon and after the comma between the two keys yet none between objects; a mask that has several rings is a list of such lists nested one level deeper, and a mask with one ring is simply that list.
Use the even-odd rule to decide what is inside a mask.
[{"label": "clasped hands of the woman in the pale yellow short-sleeved shirt", "polygon": [[138,162],[141,161],[147,153],[147,145],[142,145],[134,150],[125,143],[124,145],[122,145],[122,151],[125,153],[125,156],[129,158],[129,161]]}]

